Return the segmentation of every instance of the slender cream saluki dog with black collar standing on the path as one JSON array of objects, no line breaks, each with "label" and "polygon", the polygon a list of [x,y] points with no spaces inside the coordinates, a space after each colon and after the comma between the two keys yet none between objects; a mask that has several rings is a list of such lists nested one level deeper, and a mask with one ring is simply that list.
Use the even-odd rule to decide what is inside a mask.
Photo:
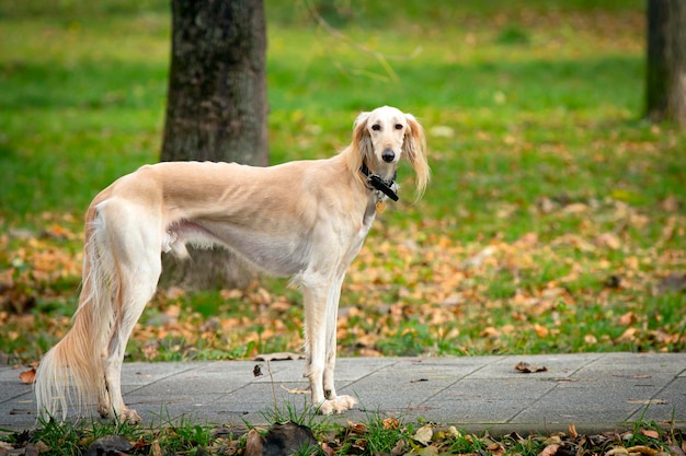
[{"label": "slender cream saluki dog with black collar standing on the path", "polygon": [[140,420],[121,391],[126,343],[156,292],[161,254],[186,257],[187,244],[225,247],[291,277],[304,295],[312,404],[322,414],[353,408],[333,382],[341,285],[377,212],[398,199],[401,159],[414,168],[419,199],[431,174],[424,130],[382,106],[359,114],[351,144],[330,159],[267,167],[165,162],[115,180],[85,214],[79,306],[37,369],[38,414],[65,420],[75,402],[96,404],[103,418]]}]

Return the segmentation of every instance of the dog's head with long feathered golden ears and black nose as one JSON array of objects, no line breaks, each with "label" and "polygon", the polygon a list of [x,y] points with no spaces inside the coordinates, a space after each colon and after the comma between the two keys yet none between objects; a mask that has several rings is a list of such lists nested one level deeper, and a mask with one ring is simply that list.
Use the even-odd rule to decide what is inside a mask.
[{"label": "dog's head with long feathered golden ears and black nose", "polygon": [[353,128],[353,148],[356,149],[357,168],[366,163],[369,169],[385,180],[392,179],[398,162],[407,159],[416,174],[416,192],[420,197],[430,178],[426,163],[424,129],[411,114],[382,106],[357,116]]}]

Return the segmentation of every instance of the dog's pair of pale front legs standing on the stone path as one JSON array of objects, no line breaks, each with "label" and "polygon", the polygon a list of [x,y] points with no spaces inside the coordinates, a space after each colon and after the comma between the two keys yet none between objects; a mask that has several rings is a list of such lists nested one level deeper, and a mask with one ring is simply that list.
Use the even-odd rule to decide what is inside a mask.
[{"label": "dog's pair of pale front legs standing on the stone path", "polygon": [[302,283],[305,301],[305,332],[307,337],[307,367],[312,404],[322,414],[340,413],[351,409],[355,399],[338,396],[333,386],[335,365],[335,329],[340,280],[306,280]]}]

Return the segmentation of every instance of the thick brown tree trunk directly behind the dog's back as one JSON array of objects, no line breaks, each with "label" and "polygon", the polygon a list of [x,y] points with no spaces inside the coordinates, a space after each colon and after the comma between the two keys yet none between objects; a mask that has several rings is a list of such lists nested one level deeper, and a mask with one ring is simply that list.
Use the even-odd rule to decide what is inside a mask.
[{"label": "thick brown tree trunk directly behind the dog's back", "polygon": [[[162,161],[265,166],[266,26],[262,0],[172,0],[172,56]],[[252,278],[222,249],[163,258],[162,284],[243,287]]]}]

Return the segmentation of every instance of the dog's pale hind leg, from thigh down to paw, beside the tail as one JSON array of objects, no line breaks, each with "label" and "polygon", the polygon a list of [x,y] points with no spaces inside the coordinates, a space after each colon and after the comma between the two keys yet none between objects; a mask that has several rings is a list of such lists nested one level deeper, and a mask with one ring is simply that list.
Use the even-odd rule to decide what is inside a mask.
[{"label": "dog's pale hind leg, from thigh down to paw, beside the tail", "polygon": [[[111,212],[115,212],[113,208]],[[122,364],[126,343],[148,301],[152,299],[162,271],[160,258],[161,235],[153,218],[136,208],[124,208],[126,213],[108,219],[111,248],[117,269],[113,282],[116,315],[106,352],[103,353],[105,397],[99,399],[101,416],[137,422],[136,410],[129,409],[122,397]],[[116,221],[115,223],[112,220]],[[113,226],[115,225],[115,226]]]}]

